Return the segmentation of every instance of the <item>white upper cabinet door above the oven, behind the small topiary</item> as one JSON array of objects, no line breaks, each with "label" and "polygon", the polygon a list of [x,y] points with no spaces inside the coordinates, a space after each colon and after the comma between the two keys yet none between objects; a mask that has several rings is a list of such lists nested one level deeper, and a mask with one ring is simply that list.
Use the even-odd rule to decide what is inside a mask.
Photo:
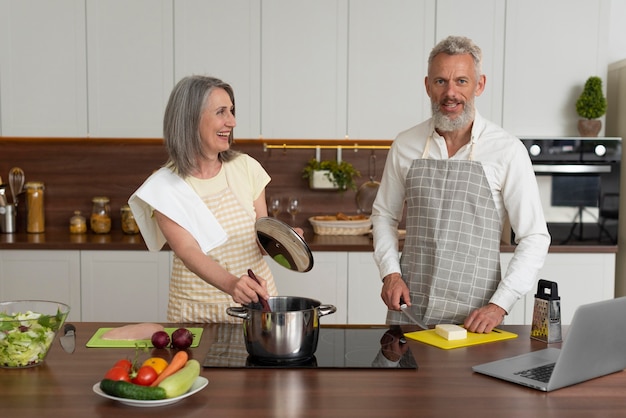
[{"label": "white upper cabinet door above the oven, behind the small topiary", "polygon": [[589,76],[606,78],[609,13],[608,0],[506,2],[505,129],[578,136],[576,99]]}]

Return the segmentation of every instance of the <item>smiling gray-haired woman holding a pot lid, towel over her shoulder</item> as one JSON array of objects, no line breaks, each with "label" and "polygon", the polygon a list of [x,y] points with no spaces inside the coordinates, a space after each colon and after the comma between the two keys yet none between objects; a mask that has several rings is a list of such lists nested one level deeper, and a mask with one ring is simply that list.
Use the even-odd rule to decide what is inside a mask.
[{"label": "smiling gray-haired woman holding a pot lid, towel over her shoulder", "polygon": [[[234,322],[226,308],[277,294],[256,242],[269,175],[231,149],[235,97],[204,76],[182,79],[165,109],[169,160],[131,196],[148,248],[174,251],[168,321]],[[252,269],[261,284],[246,272]]]}]

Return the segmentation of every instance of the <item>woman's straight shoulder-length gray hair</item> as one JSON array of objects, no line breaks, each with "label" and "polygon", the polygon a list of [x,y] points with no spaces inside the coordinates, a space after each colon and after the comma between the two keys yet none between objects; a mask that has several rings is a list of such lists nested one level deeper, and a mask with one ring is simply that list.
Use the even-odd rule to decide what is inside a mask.
[{"label": "woman's straight shoulder-length gray hair", "polygon": [[[235,93],[233,88],[220,79],[206,76],[189,76],[180,80],[167,102],[163,116],[163,138],[169,154],[167,167],[181,177],[189,176],[197,167],[199,158],[205,157],[202,138],[200,137],[200,120],[207,105],[207,99],[214,89],[224,89],[233,103],[235,114]],[[231,131],[228,138],[233,143]],[[222,162],[232,160],[239,153],[232,149],[220,152],[218,158]]]}]

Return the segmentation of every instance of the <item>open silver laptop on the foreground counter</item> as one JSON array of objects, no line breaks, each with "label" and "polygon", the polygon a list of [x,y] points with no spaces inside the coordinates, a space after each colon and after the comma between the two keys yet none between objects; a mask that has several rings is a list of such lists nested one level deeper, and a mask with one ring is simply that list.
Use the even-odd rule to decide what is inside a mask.
[{"label": "open silver laptop on the foreground counter", "polygon": [[545,348],[472,367],[544,392],[626,368],[626,297],[576,309],[561,349]]}]

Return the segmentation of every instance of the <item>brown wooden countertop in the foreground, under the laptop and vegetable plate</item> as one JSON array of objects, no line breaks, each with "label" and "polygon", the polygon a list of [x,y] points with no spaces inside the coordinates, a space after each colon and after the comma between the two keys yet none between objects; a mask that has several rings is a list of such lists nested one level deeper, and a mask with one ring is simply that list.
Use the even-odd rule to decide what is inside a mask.
[{"label": "brown wooden countertop in the foreground, under the laptop and vegetable plate", "polygon": [[[117,360],[134,355],[130,348],[85,347],[99,327],[119,324],[75,326],[73,354],[61,349],[57,337],[42,366],[0,370],[3,416],[608,417],[623,416],[626,410],[625,372],[548,394],[472,372],[475,364],[545,348],[546,344],[529,338],[527,326],[502,327],[519,334],[517,339],[453,350],[409,340],[417,370],[203,369],[201,375],[209,385],[201,392],[171,406],[146,410],[123,406],[92,391]],[[199,347],[191,350],[200,361],[215,332],[215,326],[204,327]]]}]

